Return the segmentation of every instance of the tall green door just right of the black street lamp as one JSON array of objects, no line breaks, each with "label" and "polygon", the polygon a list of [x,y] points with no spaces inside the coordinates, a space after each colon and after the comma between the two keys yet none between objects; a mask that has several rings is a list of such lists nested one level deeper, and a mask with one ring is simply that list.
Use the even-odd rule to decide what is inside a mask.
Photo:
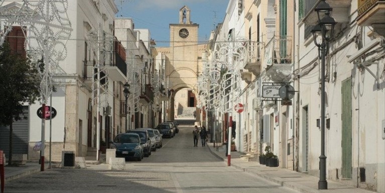
[{"label": "tall green door just right of the black street lamp", "polygon": [[352,90],[351,77],[342,81],[342,178],[352,175]]}]

